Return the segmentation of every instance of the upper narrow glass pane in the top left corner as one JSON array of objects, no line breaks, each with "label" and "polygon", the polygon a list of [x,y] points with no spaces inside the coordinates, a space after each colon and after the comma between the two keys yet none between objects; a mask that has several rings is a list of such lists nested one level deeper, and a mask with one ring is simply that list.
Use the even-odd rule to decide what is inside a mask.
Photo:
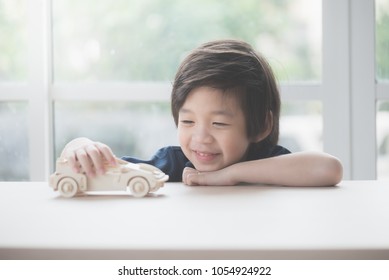
[{"label": "upper narrow glass pane in the top left corner", "polygon": [[27,73],[26,0],[0,0],[0,82]]}]

